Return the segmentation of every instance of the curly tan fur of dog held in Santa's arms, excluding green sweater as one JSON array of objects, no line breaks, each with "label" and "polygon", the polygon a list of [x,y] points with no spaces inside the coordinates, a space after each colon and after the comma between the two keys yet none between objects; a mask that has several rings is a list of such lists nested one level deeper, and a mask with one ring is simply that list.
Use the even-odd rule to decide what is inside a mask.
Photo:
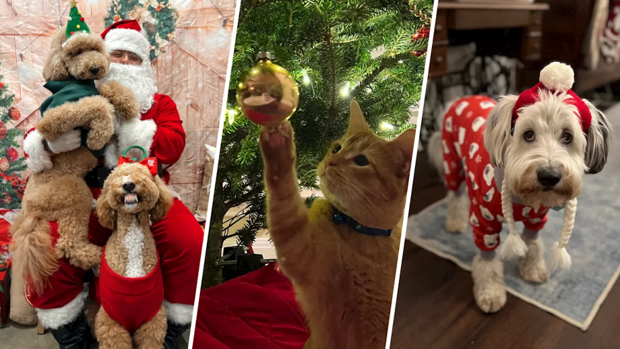
[{"label": "curly tan fur of dog held in Santa's arms, excluding green sweater", "polygon": [[[58,30],[43,71],[47,81],[99,79],[109,66],[109,55],[99,35],[78,35],[63,47],[64,29]],[[55,140],[76,127],[90,129],[87,145],[93,150],[104,147],[113,134],[115,113],[123,119],[138,117],[139,106],[133,93],[118,83],[100,86],[100,96],[84,97],[47,109],[37,130],[45,140]],[[22,274],[36,292],[58,268],[58,260],[84,270],[99,265],[101,248],[89,243],[88,222],[92,194],[84,175],[97,165],[97,159],[84,147],[52,158],[51,170],[33,173],[22,199],[15,224],[12,249]],[[48,222],[58,222],[60,238],[55,243]]]}]

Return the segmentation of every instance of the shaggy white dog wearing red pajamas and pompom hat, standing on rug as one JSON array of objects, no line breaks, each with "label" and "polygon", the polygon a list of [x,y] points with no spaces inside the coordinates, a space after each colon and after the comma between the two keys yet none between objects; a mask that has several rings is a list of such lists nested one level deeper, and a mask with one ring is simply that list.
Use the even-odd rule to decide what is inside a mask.
[{"label": "shaggy white dog wearing red pajamas and pompom hat, standing on rug", "polygon": [[[611,125],[570,90],[572,68],[551,63],[541,71],[540,81],[498,103],[483,96],[459,99],[428,146],[449,189],[447,230],[463,232],[467,224],[474,230],[480,249],[472,265],[474,297],[484,312],[496,312],[506,302],[502,258],[518,256],[526,281],[546,281],[549,271],[538,231],[550,208],[564,207],[564,228],[551,263],[569,268],[565,246],[583,175],[600,172],[607,159]],[[525,224],[522,235],[515,221]],[[502,222],[508,223],[510,235],[496,256]]]}]

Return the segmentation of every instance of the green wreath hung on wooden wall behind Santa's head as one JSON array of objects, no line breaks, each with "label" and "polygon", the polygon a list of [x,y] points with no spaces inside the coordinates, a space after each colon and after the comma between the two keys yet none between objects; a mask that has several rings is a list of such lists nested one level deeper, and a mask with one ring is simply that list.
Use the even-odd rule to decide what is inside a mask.
[{"label": "green wreath hung on wooden wall behind Santa's head", "polygon": [[169,0],[113,0],[105,17],[105,26],[123,19],[137,19],[151,44],[151,61],[157,59],[159,53],[174,38],[179,13],[172,7]]}]

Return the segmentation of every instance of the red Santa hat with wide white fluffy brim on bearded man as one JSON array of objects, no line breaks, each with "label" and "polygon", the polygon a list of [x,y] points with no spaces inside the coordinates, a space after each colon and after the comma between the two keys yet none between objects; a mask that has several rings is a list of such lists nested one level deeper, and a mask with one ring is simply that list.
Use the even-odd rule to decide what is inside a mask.
[{"label": "red Santa hat with wide white fluffy brim on bearded man", "polygon": [[143,62],[150,61],[151,45],[144,36],[138,20],[126,19],[113,23],[101,33],[108,52],[129,51],[138,55]]}]

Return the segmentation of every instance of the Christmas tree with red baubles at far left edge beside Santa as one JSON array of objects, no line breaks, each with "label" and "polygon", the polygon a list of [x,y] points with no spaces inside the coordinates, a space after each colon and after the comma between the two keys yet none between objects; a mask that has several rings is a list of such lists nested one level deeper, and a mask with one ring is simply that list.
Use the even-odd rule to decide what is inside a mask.
[{"label": "Christmas tree with red baubles at far left edge beside Santa", "polygon": [[19,143],[24,133],[9,127],[11,120],[19,120],[19,110],[13,106],[15,95],[10,93],[8,86],[0,75],[0,208],[19,209],[25,183],[20,178],[26,169],[24,157],[20,156]]}]

